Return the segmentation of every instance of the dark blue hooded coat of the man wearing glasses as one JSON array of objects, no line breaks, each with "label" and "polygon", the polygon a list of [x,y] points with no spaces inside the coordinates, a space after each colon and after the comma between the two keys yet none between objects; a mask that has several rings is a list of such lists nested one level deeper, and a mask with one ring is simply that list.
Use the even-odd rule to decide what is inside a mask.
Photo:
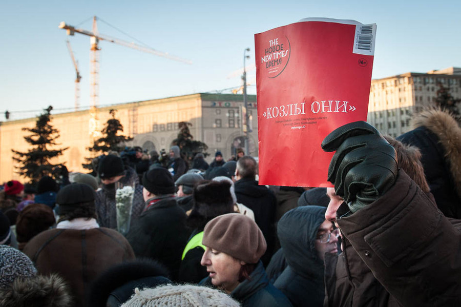
[{"label": "dark blue hooded coat of the man wearing glasses", "polygon": [[274,282],[294,306],[323,306],[324,264],[315,248],[326,208],[298,207],[285,213],[278,236],[288,266]]}]

